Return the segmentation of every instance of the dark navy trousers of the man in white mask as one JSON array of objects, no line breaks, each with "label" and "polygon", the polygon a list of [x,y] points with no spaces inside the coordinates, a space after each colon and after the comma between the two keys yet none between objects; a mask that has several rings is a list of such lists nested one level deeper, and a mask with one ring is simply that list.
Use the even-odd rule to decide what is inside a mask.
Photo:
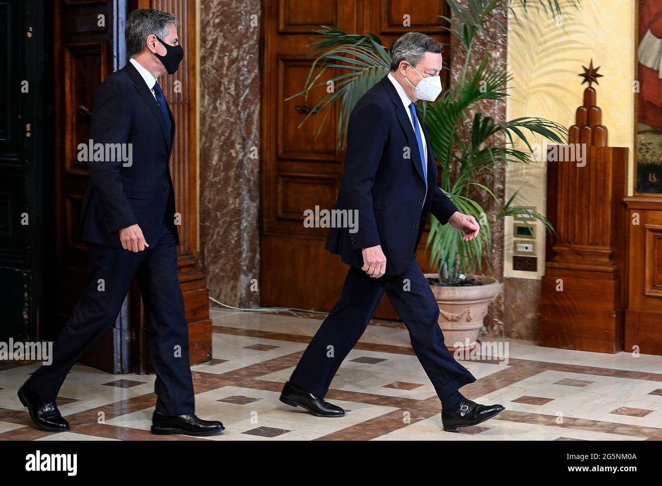
[{"label": "dark navy trousers of the man in white mask", "polygon": [[326,395],[338,367],[354,348],[386,292],[409,331],[416,357],[440,399],[475,382],[455,361],[438,324],[439,306],[416,257],[400,275],[368,276],[350,267],[338,303],[306,348],[290,381],[318,397]]}]

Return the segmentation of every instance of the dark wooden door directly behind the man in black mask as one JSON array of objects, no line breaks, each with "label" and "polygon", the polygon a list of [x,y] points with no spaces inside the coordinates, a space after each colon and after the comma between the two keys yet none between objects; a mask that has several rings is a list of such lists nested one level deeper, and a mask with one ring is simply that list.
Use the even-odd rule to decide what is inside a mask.
[{"label": "dark wooden door directly behind the man in black mask", "polygon": [[[94,95],[101,81],[126,61],[123,30],[126,1],[54,2],[54,165],[53,264],[44,282],[50,289],[42,337],[56,339],[86,283],[87,247],[78,229],[87,187],[87,163],[78,161],[79,143],[89,140]],[[129,371],[128,303],[115,325],[82,361],[109,372]]]}]

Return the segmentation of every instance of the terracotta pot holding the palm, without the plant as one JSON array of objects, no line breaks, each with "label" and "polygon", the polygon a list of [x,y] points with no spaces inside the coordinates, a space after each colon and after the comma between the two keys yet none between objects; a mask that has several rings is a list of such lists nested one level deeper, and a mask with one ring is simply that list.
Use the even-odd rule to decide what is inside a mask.
[{"label": "terracotta pot holding the palm, without the plant", "polygon": [[[436,273],[426,273],[426,278],[438,278]],[[445,287],[431,285],[434,298],[439,305],[439,327],[449,349],[473,348],[478,342],[478,332],[483,327],[490,302],[501,292],[501,283],[496,278],[482,275],[467,275],[481,280],[483,285]]]}]

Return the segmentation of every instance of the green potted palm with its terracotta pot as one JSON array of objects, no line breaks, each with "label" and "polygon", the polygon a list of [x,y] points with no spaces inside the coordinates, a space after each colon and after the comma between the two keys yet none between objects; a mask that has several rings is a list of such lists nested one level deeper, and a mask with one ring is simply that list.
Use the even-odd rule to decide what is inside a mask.
[{"label": "green potted palm with its terracotta pot", "polygon": [[[511,77],[502,67],[491,66],[487,54],[473,67],[469,60],[477,34],[486,34],[485,26],[493,18],[491,13],[504,5],[512,8],[511,1],[471,0],[463,5],[459,0],[446,0],[454,17],[443,19],[448,22],[446,28],[458,40],[458,45],[465,50],[465,63],[459,83],[446,89],[435,102],[418,102],[439,166],[440,188],[459,211],[473,215],[481,223],[478,237],[463,241],[463,233],[432,217],[426,249],[431,266],[438,272],[426,274],[426,278],[439,304],[439,324],[451,348],[455,343],[460,346],[477,343],[489,304],[501,290],[496,278],[477,274],[483,264],[483,253],[491,244],[492,225],[506,216],[526,215],[553,231],[551,223],[541,214],[515,206],[516,194],[502,202],[489,186],[479,182],[498,165],[535,162],[525,132],[553,143],[563,143],[567,134],[563,126],[542,118],[517,118],[498,123],[481,112],[481,102],[502,101],[508,96],[506,87]],[[526,0],[518,1],[526,9]],[[569,1],[579,4],[579,0]],[[550,11],[561,13],[557,0],[538,2],[545,10],[549,7]],[[326,86],[327,93],[316,102],[308,116],[320,116],[326,106],[340,102],[338,143],[342,148],[352,108],[389,72],[391,56],[375,34],[348,34],[326,27],[314,32],[318,39],[310,47],[316,59],[303,91],[289,99],[307,97],[312,89]],[[334,70],[334,75],[325,75],[329,69]],[[326,120],[326,114],[324,116],[322,123]],[[526,150],[516,148],[518,141]],[[487,214],[479,202],[486,194],[489,200],[495,201],[498,208],[495,214]]]}]

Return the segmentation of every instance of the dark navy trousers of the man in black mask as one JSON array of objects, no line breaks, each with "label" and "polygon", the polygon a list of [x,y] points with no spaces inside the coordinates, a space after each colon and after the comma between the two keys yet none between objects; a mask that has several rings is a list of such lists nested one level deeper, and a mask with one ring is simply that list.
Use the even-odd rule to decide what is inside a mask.
[{"label": "dark navy trousers of the man in black mask", "polygon": [[109,329],[122,308],[134,278],[145,309],[146,331],[156,372],[156,411],[193,413],[195,398],[189,365],[189,329],[179,288],[177,246],[164,225],[158,241],[134,253],[88,243],[87,287],[70,321],[53,346],[53,360],[28,382],[47,401],[54,400],[73,365]]}]

